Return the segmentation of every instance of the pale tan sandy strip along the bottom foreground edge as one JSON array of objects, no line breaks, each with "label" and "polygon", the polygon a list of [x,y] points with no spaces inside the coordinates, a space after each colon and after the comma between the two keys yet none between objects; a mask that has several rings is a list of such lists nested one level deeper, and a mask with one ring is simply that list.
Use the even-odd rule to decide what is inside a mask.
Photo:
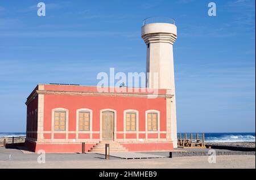
[{"label": "pale tan sandy strip along the bottom foreground edge", "polygon": [[141,160],[0,161],[0,168],[254,168],[255,156],[218,156],[209,164],[207,156]]}]

